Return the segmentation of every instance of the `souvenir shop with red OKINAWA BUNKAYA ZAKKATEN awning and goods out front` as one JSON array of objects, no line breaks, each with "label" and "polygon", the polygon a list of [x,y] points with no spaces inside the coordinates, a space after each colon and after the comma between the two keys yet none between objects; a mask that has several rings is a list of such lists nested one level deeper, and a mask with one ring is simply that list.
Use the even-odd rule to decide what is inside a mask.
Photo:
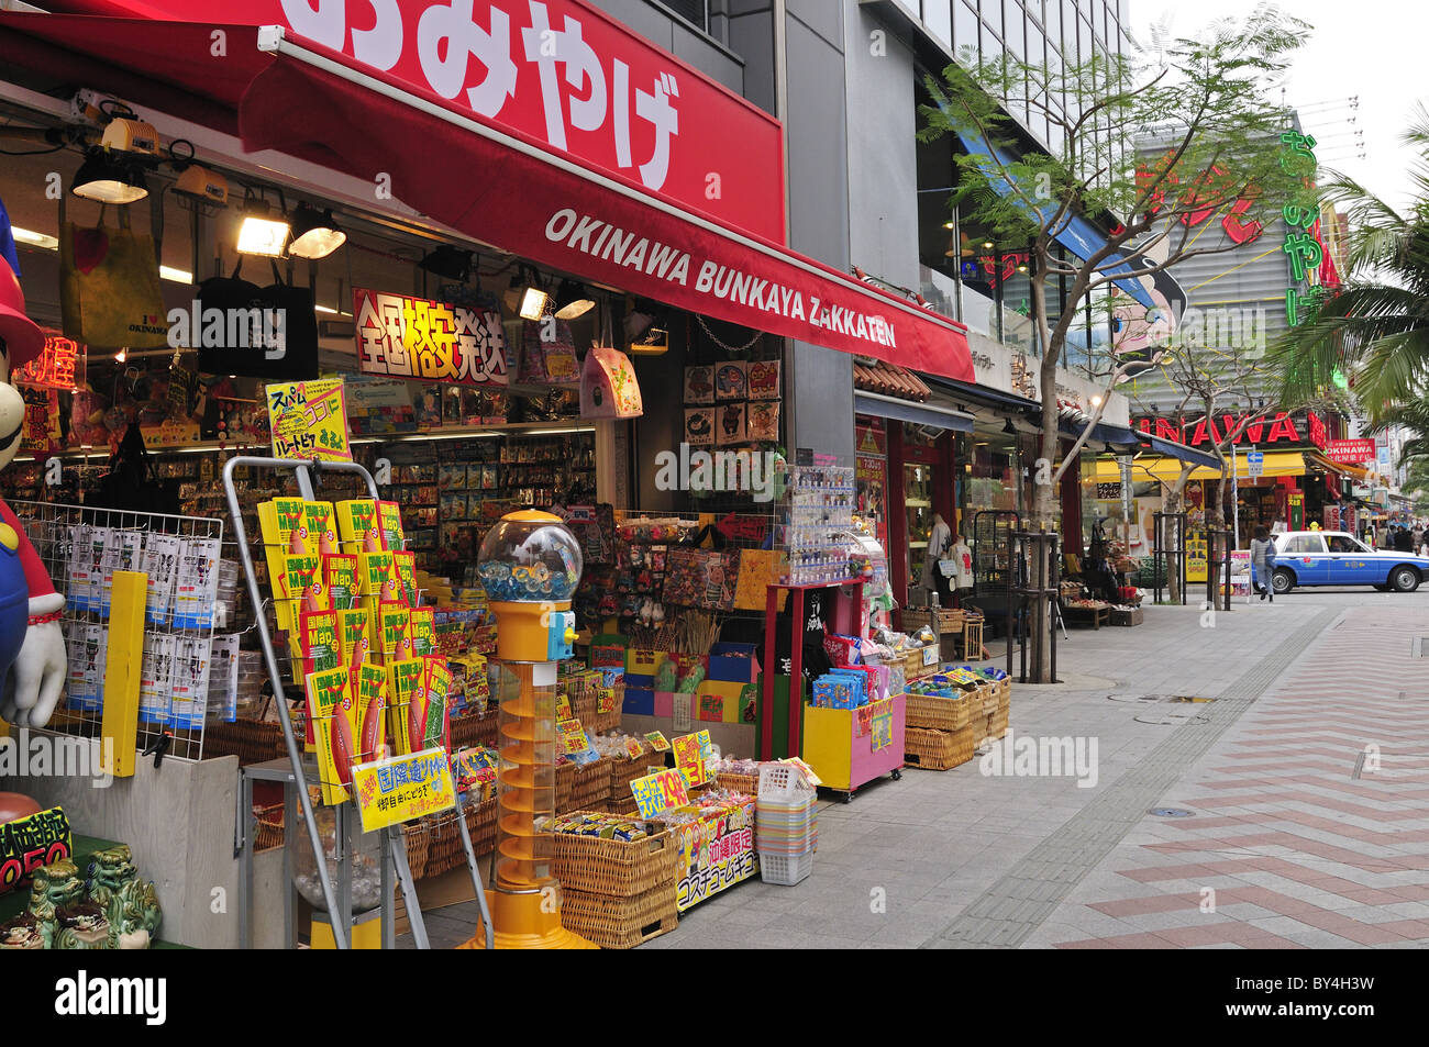
[{"label": "souvenir shop with red OKINAWA BUNKAYA ZAKKATEN awning and goods out front", "polygon": [[[777,121],[560,6],[679,67],[683,141],[767,163],[712,203],[696,151],[663,189],[574,164],[539,106],[474,120],[292,29],[227,27],[214,77],[207,24],[0,16],[0,483],[66,651],[29,720],[116,778],[24,783],[7,943],[422,944],[500,837],[484,944],[629,947],[802,880],[816,787],[1005,730],[960,620],[886,627],[856,463],[782,411],[786,339],[969,377],[962,330],[780,247]],[[554,926],[520,901],[552,876]]]}]

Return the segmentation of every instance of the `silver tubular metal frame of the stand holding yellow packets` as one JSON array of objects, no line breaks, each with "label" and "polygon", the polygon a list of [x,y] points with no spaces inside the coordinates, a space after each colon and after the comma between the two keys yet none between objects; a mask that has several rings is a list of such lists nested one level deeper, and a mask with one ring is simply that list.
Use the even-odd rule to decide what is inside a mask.
[{"label": "silver tubular metal frame of the stand holding yellow packets", "polygon": [[[377,484],[366,469],[350,461],[302,461],[297,459],[260,459],[260,457],[236,457],[230,459],[223,467],[223,489],[229,501],[229,511],[233,514],[234,521],[239,524],[236,527],[237,533],[242,536],[239,546],[239,556],[243,563],[243,573],[249,584],[249,596],[253,600],[254,607],[263,606],[263,594],[259,588],[259,578],[254,573],[253,553],[249,548],[247,533],[242,527],[243,509],[239,503],[237,489],[234,486],[234,471],[239,469],[249,470],[269,470],[274,473],[292,473],[297,481],[299,493],[303,499],[316,499],[316,483],[320,481],[323,473],[349,473],[359,476],[367,486],[370,497],[376,501],[380,496],[377,493]],[[313,813],[313,800],[309,796],[309,786],[317,784],[317,770],[313,763],[303,761],[302,748],[297,744],[297,738],[293,736],[292,717],[287,716],[289,701],[283,691],[283,671],[279,664],[279,656],[273,647],[273,634],[269,631],[267,617],[257,614],[257,631],[263,643],[263,657],[267,664],[269,678],[273,684],[273,694],[279,704],[279,724],[283,728],[283,744],[287,748],[287,761],[277,760],[269,764],[260,764],[247,768],[247,774],[243,780],[243,788],[240,788],[240,821],[239,821],[239,838],[234,841],[242,864],[242,898],[240,910],[243,917],[243,934],[244,941],[250,941],[249,928],[249,914],[252,911],[252,883],[253,883],[253,844],[256,834],[256,818],[253,816],[252,804],[252,783],[253,780],[272,780],[284,783],[286,800],[284,806],[287,813],[292,814],[293,796],[296,794],[297,806],[303,813],[303,821],[307,827],[309,843],[313,848],[314,866],[317,870],[317,877],[322,884],[323,900],[327,906],[327,913],[332,918],[333,941],[337,948],[347,948],[350,946],[349,931],[353,926],[353,911],[352,911],[352,857],[353,857],[353,838],[356,827],[360,823],[357,808],[354,803],[349,798],[342,804],[337,804],[333,811],[336,817],[336,833],[334,833],[334,854],[337,861],[339,883],[334,887],[333,877],[329,874],[326,851],[323,848],[322,836],[317,828],[317,818]],[[290,843],[293,818],[284,820],[284,834],[287,843]],[[472,874],[472,886],[476,890],[476,900],[482,914],[482,926],[486,936],[486,947],[494,947],[494,931],[492,927],[490,911],[486,903],[486,891],[482,886],[482,877],[476,866],[476,851],[472,846],[472,833],[466,824],[464,817],[459,817],[457,826],[462,833],[462,847],[466,851],[467,868]],[[412,937],[417,948],[429,948],[430,943],[427,940],[426,924],[422,918],[422,904],[417,900],[416,884],[412,877],[412,867],[407,864],[407,844],[402,833],[402,826],[392,826],[382,831],[382,926],[383,926],[383,947],[393,947],[393,923],[394,923],[394,898],[392,891],[392,876],[396,874],[397,883],[402,886],[402,897],[406,906],[407,920],[412,924]],[[284,860],[284,873],[287,873],[287,883],[284,890],[284,916],[286,916],[286,933],[287,943],[292,944],[292,854]]]}]

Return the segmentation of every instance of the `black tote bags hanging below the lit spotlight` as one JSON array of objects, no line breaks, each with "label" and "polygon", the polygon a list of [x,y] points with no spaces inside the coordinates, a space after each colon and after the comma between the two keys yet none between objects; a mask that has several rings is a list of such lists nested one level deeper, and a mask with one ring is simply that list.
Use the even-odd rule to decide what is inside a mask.
[{"label": "black tote bags hanging below the lit spotlight", "polygon": [[240,254],[231,276],[199,284],[191,313],[174,327],[174,343],[197,349],[199,370],[209,374],[316,379],[317,314],[312,289],[283,283],[277,264],[267,287],[244,280],[242,273]]}]

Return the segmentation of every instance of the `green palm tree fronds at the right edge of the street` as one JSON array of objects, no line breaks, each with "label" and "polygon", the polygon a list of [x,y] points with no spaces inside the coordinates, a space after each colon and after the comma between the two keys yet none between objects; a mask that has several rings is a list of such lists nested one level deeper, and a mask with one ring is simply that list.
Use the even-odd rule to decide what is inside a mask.
[{"label": "green palm tree fronds at the right edge of the street", "polygon": [[1406,211],[1352,179],[1323,187],[1325,199],[1349,220],[1348,276],[1338,294],[1269,353],[1285,369],[1285,403],[1320,396],[1348,376],[1370,420],[1382,423],[1386,411],[1415,404],[1429,390],[1429,109],[1423,103],[1400,139],[1420,157],[1410,170],[1415,199]]}]

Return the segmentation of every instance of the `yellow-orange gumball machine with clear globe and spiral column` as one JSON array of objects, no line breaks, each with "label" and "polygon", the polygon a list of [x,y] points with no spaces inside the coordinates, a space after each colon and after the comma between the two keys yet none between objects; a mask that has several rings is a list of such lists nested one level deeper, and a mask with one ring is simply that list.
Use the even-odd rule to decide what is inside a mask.
[{"label": "yellow-orange gumball machine with clear globe and spiral column", "polygon": [[570,597],[580,544],[557,516],[507,513],[482,541],[477,570],[496,616],[500,700],[496,947],[594,948],[560,924],[560,883],[550,874],[549,837],[537,831],[556,813],[556,663],[572,657],[576,640]]}]

